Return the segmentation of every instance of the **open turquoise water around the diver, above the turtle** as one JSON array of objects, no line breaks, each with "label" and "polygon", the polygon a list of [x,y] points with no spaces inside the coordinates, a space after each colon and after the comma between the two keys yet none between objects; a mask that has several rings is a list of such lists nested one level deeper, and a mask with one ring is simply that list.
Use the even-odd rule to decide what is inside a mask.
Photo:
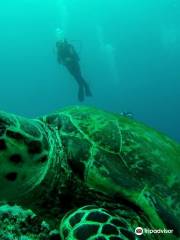
[{"label": "open turquoise water around the diver, above the turtle", "polygon": [[[180,141],[180,1],[0,2],[0,109],[36,117],[85,104],[120,113]],[[56,29],[78,51],[93,97],[57,63]]]}]

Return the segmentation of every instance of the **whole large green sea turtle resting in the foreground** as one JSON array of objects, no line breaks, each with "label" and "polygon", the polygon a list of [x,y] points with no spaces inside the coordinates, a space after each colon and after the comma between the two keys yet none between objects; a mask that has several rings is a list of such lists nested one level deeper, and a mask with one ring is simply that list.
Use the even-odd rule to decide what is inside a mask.
[{"label": "whole large green sea turtle resting in the foreground", "polygon": [[60,223],[62,240],[178,239],[179,168],[177,143],[126,116],[0,112],[0,200]]}]

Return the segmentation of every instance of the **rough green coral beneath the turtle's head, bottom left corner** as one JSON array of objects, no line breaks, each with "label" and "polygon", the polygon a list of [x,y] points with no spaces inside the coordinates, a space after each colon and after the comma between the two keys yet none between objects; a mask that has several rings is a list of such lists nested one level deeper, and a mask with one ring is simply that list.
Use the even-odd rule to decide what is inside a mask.
[{"label": "rough green coral beneath the turtle's head, bottom left corner", "polygon": [[57,230],[17,205],[0,206],[0,226],[1,240],[60,240]]}]

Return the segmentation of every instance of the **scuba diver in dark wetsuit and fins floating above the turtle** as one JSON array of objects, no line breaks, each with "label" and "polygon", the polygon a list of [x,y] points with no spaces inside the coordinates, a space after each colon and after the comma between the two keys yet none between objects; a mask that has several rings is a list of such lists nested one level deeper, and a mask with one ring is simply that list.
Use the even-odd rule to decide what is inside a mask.
[{"label": "scuba diver in dark wetsuit and fins floating above the turtle", "polygon": [[82,77],[79,56],[77,55],[74,47],[66,40],[57,42],[56,47],[57,60],[60,64],[63,64],[68,69],[68,71],[77,81],[79,86],[78,99],[82,102],[84,100],[84,91],[86,96],[92,96],[92,94],[87,82]]}]

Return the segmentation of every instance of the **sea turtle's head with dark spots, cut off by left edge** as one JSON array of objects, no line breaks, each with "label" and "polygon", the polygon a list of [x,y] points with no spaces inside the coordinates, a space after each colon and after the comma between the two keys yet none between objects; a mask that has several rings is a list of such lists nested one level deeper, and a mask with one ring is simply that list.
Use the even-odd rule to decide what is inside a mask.
[{"label": "sea turtle's head with dark spots, cut off by left edge", "polygon": [[40,122],[0,111],[0,200],[16,201],[36,186],[48,148]]}]

